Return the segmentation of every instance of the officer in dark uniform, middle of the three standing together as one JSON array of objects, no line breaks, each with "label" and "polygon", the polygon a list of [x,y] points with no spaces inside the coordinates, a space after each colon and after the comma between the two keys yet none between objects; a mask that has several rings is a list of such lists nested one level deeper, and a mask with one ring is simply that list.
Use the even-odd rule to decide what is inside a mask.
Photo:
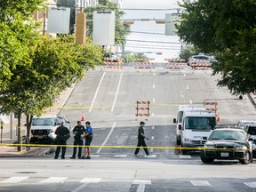
[{"label": "officer in dark uniform, middle of the three standing together", "polygon": [[76,146],[78,146],[78,159],[81,158],[82,155],[82,146],[84,145],[84,133],[85,133],[85,128],[84,125],[81,124],[81,121],[77,121],[77,125],[73,129],[73,134],[74,136],[74,148],[73,148],[73,156],[71,156],[71,159],[76,159]]}]

